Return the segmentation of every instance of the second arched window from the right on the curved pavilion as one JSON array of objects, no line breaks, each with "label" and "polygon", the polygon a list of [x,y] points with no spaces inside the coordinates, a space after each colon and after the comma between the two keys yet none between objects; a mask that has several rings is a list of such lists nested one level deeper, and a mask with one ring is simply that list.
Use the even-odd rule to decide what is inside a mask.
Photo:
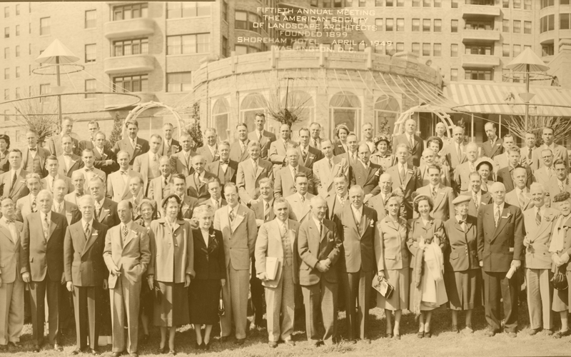
[{"label": "second arched window from the right on the curved pavilion", "polygon": [[341,91],[335,94],[329,102],[329,114],[331,123],[331,137],[335,136],[335,128],[339,124],[345,124],[350,131],[355,132],[360,121],[361,102],[355,94],[349,91]]}]

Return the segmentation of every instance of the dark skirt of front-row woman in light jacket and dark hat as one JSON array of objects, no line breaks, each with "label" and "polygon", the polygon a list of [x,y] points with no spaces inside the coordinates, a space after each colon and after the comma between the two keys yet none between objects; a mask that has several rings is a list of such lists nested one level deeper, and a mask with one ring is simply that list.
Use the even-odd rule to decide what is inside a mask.
[{"label": "dark skirt of front-row woman in light jacket and dark hat", "polygon": [[173,327],[188,324],[188,295],[184,283],[157,281],[161,292],[155,298],[155,326]]}]

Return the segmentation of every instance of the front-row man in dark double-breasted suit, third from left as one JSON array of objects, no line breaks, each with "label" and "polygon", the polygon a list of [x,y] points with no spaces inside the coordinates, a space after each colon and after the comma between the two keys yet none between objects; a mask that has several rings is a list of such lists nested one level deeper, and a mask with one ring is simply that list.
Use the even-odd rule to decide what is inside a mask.
[{"label": "front-row man in dark double-breasted suit, third from left", "polygon": [[96,355],[99,323],[96,316],[101,304],[101,288],[107,289],[108,271],[103,261],[107,226],[94,220],[95,200],[82,196],[79,205],[83,218],[67,227],[64,239],[64,270],[66,288],[74,296],[77,348],[74,355],[84,352]]}]

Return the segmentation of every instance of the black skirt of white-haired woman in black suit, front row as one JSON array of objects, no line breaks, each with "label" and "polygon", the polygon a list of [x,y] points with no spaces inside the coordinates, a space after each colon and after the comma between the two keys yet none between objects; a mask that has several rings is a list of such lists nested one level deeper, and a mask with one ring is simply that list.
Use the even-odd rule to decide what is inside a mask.
[{"label": "black skirt of white-haired woman in black suit, front row", "polygon": [[219,279],[193,279],[188,291],[191,323],[215,325],[220,322],[218,301],[220,301]]}]

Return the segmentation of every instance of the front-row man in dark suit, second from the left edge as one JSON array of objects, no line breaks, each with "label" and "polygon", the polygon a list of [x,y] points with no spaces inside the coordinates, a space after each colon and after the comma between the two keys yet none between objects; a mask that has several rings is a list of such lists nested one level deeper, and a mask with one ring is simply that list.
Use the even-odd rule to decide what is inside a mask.
[{"label": "front-row man in dark suit, second from the left edge", "polygon": [[64,216],[51,211],[52,196],[49,191],[38,193],[38,206],[38,212],[24,217],[20,255],[22,280],[30,284],[34,352],[40,351],[44,340],[46,293],[49,342],[56,351],[64,351],[59,331],[59,286],[65,282],[62,258],[68,225]]}]

